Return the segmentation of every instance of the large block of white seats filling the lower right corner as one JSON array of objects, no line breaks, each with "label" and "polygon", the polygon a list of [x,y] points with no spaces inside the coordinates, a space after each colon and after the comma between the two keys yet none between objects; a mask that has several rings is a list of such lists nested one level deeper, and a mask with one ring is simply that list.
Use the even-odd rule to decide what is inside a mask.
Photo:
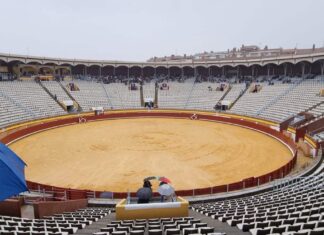
[{"label": "large block of white seats filling the lower right corner", "polygon": [[253,235],[324,234],[324,173],[284,185],[259,195],[194,205],[193,210]]}]

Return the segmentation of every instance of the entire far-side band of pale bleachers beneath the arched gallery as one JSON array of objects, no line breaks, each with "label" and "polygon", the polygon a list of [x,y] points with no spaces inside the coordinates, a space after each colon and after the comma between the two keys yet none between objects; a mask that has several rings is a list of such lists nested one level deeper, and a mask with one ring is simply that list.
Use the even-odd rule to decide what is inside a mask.
[{"label": "entire far-side band of pale bleachers beneath the arched gallery", "polygon": [[[319,92],[324,87],[324,77],[313,79],[291,78],[291,83],[275,80],[273,84],[258,83],[262,86],[257,93],[246,92],[245,83],[229,84],[225,91],[216,91],[220,83],[195,83],[194,78],[184,82],[169,81],[169,89],[158,90],[158,107],[164,109],[193,109],[213,111],[216,103],[225,101],[237,102],[227,112],[248,116],[256,116],[281,122],[286,118],[307,111],[316,117],[324,114],[324,97]],[[230,81],[230,80],[229,80]],[[137,90],[130,90],[121,82],[103,84],[92,80],[73,80],[80,89],[68,91],[80,104],[83,111],[91,111],[93,107],[110,109],[138,109],[141,107],[140,85]],[[62,82],[67,88],[70,82]],[[43,81],[42,84],[58,101],[71,100],[69,95],[56,81]],[[159,84],[161,85],[161,83]],[[211,90],[209,89],[212,88]],[[225,95],[226,94],[226,95]],[[225,95],[225,96],[224,96]],[[155,99],[155,80],[145,82],[143,97]],[[39,119],[66,114],[66,112],[34,81],[2,81],[0,83],[0,127],[21,121]]]}]

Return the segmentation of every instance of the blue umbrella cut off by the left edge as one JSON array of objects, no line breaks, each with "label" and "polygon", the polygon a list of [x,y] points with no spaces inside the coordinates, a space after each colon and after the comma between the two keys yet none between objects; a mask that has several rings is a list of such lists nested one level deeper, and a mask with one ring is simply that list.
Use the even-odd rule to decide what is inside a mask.
[{"label": "blue umbrella cut off by the left edge", "polygon": [[17,154],[0,142],[0,201],[28,191],[25,166]]}]

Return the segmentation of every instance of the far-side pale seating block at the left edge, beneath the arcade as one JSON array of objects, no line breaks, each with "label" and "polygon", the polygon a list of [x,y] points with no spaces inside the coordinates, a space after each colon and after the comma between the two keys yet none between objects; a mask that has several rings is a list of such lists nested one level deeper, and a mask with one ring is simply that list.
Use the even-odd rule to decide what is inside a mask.
[{"label": "far-side pale seating block at the left edge, beneath the arcade", "polygon": [[0,100],[0,127],[66,114],[36,82],[1,82]]}]

